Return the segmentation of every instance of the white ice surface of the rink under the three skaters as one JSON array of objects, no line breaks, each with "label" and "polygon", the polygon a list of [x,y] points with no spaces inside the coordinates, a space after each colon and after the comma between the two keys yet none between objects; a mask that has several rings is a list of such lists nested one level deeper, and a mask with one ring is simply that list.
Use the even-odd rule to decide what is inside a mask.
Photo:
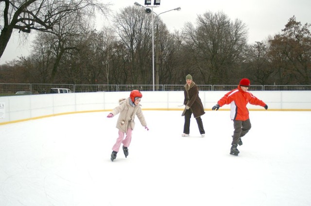
[{"label": "white ice surface of the rink under the three skaters", "polygon": [[0,126],[0,206],[311,206],[311,111],[250,111],[229,155],[229,111],[206,111],[206,136],[182,111],[143,111],[129,156],[114,162],[117,116],[53,116]]}]

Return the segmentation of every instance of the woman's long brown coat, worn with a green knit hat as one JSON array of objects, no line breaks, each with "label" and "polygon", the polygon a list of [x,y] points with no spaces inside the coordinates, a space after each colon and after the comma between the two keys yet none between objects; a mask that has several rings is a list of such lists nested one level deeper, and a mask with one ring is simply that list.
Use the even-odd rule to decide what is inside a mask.
[{"label": "woman's long brown coat, worn with a green knit hat", "polygon": [[199,97],[199,88],[193,81],[190,86],[185,84],[184,95],[184,105],[190,107],[195,118],[205,114],[202,101]]}]

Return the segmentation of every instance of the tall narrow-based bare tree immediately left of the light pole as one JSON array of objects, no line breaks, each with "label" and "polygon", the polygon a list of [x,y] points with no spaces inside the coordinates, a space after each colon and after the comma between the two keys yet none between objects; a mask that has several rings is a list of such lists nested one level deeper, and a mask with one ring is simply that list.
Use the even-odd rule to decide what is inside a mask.
[{"label": "tall narrow-based bare tree immediately left of the light pole", "polygon": [[152,68],[152,20],[135,6],[115,15],[115,30],[127,51],[127,70],[133,84],[150,84]]}]

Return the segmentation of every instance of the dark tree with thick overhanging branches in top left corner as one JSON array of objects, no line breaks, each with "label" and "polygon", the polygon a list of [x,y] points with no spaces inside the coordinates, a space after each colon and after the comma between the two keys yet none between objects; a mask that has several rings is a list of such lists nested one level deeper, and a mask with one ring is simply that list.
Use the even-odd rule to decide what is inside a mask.
[{"label": "dark tree with thick overhanging branches in top left corner", "polygon": [[0,15],[0,57],[13,30],[52,32],[64,17],[79,11],[90,18],[95,15],[95,9],[106,14],[110,5],[97,0],[0,0],[0,4],[3,8]]}]

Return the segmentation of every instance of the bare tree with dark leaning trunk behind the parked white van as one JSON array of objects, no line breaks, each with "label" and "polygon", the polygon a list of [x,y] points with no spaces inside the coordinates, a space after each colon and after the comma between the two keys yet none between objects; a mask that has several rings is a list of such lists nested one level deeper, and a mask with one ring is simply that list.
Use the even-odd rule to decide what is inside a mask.
[{"label": "bare tree with dark leaning trunk behind the parked white van", "polygon": [[[54,83],[61,81],[61,75],[66,74],[68,75],[66,80],[72,82],[71,78],[74,79],[74,73],[70,75],[70,72],[64,70],[71,70],[72,67],[68,65],[69,53],[73,49],[79,49],[80,42],[83,41],[86,31],[89,30],[90,26],[85,20],[86,18],[87,16],[83,16],[77,11],[74,15],[63,17],[54,25],[52,31],[37,34],[31,59],[34,63],[33,68],[36,68],[37,72],[41,71],[38,73],[41,77],[38,79],[47,83]],[[24,61],[24,63],[26,62]],[[59,70],[60,72],[58,72]]]}]

